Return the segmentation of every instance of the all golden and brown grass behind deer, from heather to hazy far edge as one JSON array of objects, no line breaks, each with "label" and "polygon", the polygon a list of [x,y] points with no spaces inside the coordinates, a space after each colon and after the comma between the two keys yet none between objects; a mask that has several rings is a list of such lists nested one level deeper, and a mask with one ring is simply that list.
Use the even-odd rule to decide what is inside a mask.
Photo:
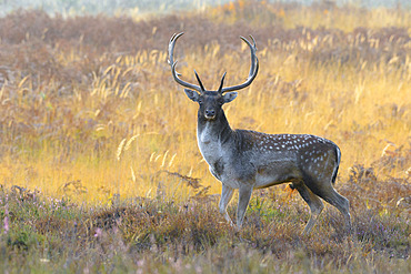
[{"label": "all golden and brown grass behind deer, from heather to hazy far edge", "polygon": [[[197,69],[208,89],[224,71],[228,85],[244,80],[238,37],[255,37],[260,72],[225,106],[232,128],[333,140],[339,185],[358,164],[409,177],[410,11],[238,1],[150,21],[1,18],[0,183],[103,204],[219,193],[197,148],[197,105],[167,64],[168,39],[182,30],[178,70],[194,82]],[[397,156],[390,169],[378,165],[385,155]]]}]

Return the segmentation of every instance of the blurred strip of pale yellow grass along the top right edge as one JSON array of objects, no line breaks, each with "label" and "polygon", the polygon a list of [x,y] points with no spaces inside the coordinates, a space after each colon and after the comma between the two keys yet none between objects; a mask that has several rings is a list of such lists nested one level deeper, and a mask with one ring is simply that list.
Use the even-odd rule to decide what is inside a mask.
[{"label": "blurred strip of pale yellow grass along the top right edge", "polygon": [[[359,27],[379,29],[388,26],[410,27],[410,12],[399,3],[395,8],[360,8],[357,3],[338,6],[339,1],[315,1],[311,6],[295,2],[272,3],[270,1],[238,0],[207,10],[213,20],[247,23],[264,27],[294,29],[307,27],[313,29],[339,29],[352,32]],[[409,8],[409,7],[408,7]]]}]

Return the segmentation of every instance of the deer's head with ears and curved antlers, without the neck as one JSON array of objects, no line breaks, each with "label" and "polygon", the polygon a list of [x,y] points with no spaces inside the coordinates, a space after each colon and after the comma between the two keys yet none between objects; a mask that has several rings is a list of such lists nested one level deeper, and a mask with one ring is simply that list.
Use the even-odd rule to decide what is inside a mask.
[{"label": "deer's head with ears and curved antlers, without the neck", "polygon": [[229,103],[237,98],[238,93],[234,91],[247,88],[248,85],[252,83],[252,81],[257,77],[257,73],[259,70],[259,60],[255,55],[255,51],[257,51],[255,41],[250,35],[251,40],[253,41],[253,44],[251,44],[245,38],[240,37],[250,47],[250,51],[251,51],[251,68],[250,68],[250,73],[249,73],[247,81],[239,85],[223,88],[224,78],[225,78],[225,73],[224,73],[221,78],[220,88],[217,91],[209,91],[204,89],[204,85],[202,84],[200,77],[196,70],[194,70],[194,74],[196,74],[197,81],[199,82],[199,85],[188,83],[181,80],[179,78],[180,73],[176,71],[177,61],[176,62],[173,61],[173,51],[174,51],[176,41],[182,34],[183,32],[179,34],[173,34],[169,43],[169,57],[170,57],[169,64],[171,65],[172,75],[179,84],[186,88],[189,88],[189,89],[184,89],[184,92],[188,95],[188,98],[192,100],[193,102],[199,103],[199,106],[200,106],[199,118],[207,120],[207,121],[217,120],[221,115],[221,112],[222,112],[221,106],[224,103]]}]

